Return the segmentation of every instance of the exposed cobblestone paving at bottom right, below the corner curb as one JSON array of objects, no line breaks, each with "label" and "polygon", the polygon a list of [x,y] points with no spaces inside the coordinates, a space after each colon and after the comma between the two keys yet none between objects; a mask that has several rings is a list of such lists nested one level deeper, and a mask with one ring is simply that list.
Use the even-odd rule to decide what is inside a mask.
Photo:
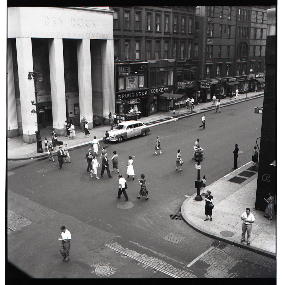
[{"label": "exposed cobblestone paving at bottom right, below the corner curb", "polygon": [[[144,268],[160,271],[174,278],[275,278],[276,260],[258,255],[245,249],[226,243],[212,243],[207,251],[189,264],[180,262],[162,253],[158,253],[133,243],[139,249],[122,247],[119,243],[105,244],[107,247],[125,254]],[[141,250],[140,250],[141,249]],[[141,253],[144,250],[150,254]]]}]

